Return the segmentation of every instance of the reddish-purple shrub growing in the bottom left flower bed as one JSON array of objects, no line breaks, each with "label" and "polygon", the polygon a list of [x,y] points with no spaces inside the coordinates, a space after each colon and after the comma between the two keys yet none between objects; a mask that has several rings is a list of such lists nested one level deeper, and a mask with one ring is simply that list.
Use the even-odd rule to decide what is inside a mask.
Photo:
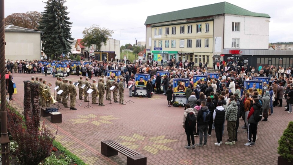
[{"label": "reddish-purple shrub growing in the bottom left flower bed", "polygon": [[7,109],[7,119],[8,129],[18,145],[15,155],[20,164],[37,165],[49,156],[55,137],[52,131],[45,127],[45,123],[38,130],[34,119],[26,116],[24,122],[20,116],[9,109]]}]

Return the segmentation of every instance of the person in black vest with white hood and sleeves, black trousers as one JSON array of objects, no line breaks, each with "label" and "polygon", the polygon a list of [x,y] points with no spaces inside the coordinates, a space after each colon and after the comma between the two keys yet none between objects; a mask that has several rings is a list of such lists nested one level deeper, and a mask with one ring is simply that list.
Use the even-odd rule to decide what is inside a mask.
[{"label": "person in black vest with white hood and sleeves, black trousers", "polygon": [[213,120],[215,123],[215,133],[216,133],[216,138],[217,142],[215,145],[220,146],[222,144],[222,130],[223,130],[223,125],[225,123],[225,109],[222,106],[222,101],[218,102],[218,106],[213,112]]}]

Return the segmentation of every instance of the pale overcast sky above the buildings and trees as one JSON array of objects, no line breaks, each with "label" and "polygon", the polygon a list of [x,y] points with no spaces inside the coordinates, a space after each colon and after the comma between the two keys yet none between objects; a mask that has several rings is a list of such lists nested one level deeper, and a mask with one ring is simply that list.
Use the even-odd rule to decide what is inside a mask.
[{"label": "pale overcast sky above the buildings and trees", "polygon": [[[43,0],[46,1],[46,0]],[[135,38],[145,41],[147,16],[208,5],[223,1],[190,0],[67,0],[71,32],[75,39],[82,38],[82,31],[92,24],[114,31],[113,39],[120,40],[120,45],[133,44]],[[234,5],[257,13],[271,16],[269,24],[269,42],[293,41],[293,5],[289,0],[227,0]],[[42,0],[5,0],[5,16],[12,13],[44,10]],[[252,25],[253,26],[253,25]]]}]

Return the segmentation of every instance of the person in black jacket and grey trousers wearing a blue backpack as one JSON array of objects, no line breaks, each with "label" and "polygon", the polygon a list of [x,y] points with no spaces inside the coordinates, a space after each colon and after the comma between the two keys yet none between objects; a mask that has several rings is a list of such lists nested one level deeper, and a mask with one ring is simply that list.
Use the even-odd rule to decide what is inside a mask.
[{"label": "person in black jacket and grey trousers wearing a blue backpack", "polygon": [[201,101],[201,109],[198,111],[196,120],[199,127],[199,143],[195,144],[198,147],[202,147],[202,136],[204,134],[204,146],[208,142],[208,122],[204,122],[203,112],[208,110],[208,107],[205,106],[206,102]]}]

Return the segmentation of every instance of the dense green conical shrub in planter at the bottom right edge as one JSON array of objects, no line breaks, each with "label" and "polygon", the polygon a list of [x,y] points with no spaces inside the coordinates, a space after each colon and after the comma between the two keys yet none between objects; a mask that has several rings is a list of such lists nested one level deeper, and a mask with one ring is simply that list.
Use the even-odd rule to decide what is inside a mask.
[{"label": "dense green conical shrub in planter at the bottom right edge", "polygon": [[279,140],[278,154],[289,162],[293,161],[293,121],[290,121]]}]

